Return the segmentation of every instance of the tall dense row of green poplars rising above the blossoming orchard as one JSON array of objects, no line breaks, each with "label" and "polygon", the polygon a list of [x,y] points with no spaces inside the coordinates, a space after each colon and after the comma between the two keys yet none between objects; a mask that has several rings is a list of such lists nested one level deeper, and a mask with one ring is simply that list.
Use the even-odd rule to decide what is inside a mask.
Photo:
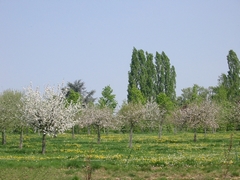
[{"label": "tall dense row of green poplars rising above the blossoming orchard", "polygon": [[133,48],[128,72],[128,102],[144,103],[157,98],[160,93],[176,99],[176,72],[168,56],[153,54]]}]

